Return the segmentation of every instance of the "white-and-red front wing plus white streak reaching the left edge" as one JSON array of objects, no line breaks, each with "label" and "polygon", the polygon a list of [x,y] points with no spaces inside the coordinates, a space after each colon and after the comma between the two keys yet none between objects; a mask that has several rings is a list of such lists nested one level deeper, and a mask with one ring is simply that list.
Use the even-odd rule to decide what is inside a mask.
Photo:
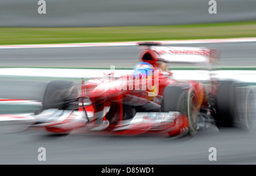
[{"label": "white-and-red front wing plus white streak reaching the left edge", "polygon": [[57,133],[69,133],[84,128],[88,131],[109,131],[111,129],[110,132],[115,135],[168,132],[176,136],[185,134],[189,123],[187,116],[179,112],[153,112],[137,113],[133,118],[120,121],[112,126],[106,119],[101,124],[96,124],[93,113],[90,111],[85,113],[85,111],[47,109],[39,114],[1,114],[0,125],[1,130],[6,130],[5,132],[18,132],[28,127],[44,127],[47,131]]}]

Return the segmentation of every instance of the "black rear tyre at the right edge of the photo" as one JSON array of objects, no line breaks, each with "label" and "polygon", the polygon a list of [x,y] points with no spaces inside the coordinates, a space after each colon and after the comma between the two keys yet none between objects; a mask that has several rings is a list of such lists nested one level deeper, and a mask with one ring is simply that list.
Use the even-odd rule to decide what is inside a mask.
[{"label": "black rear tyre at the right edge of the photo", "polygon": [[216,98],[218,127],[239,127],[250,131],[255,117],[255,95],[250,86],[222,81]]}]

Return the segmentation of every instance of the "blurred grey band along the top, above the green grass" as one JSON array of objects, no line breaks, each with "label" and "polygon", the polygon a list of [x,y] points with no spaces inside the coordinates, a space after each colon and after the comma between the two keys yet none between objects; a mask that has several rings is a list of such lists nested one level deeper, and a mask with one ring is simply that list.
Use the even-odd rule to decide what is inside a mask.
[{"label": "blurred grey band along the top, above the green grass", "polygon": [[216,1],[217,14],[209,14],[208,0],[55,0],[46,1],[46,14],[38,14],[38,2],[0,0],[0,26],[173,25],[256,19],[254,0]]}]

